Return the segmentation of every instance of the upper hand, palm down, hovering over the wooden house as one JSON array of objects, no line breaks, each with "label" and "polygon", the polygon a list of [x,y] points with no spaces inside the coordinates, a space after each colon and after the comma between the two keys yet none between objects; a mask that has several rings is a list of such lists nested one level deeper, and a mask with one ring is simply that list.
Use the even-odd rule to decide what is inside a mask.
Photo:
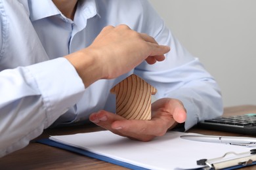
[{"label": "upper hand, palm down, hovering over the wooden house", "polygon": [[89,47],[66,58],[88,87],[96,80],[123,75],[144,60],[149,64],[163,61],[163,54],[169,50],[169,46],[159,45],[153,37],[119,25],[104,27]]}]

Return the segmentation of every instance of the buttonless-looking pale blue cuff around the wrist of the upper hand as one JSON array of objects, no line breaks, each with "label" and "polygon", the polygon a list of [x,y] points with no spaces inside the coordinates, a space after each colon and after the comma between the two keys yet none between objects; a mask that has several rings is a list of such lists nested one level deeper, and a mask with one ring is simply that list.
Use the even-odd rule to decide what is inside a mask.
[{"label": "buttonless-looking pale blue cuff around the wrist of the upper hand", "polygon": [[27,67],[34,86],[41,92],[47,112],[46,127],[73,107],[85,91],[83,81],[66,58],[57,58]]}]

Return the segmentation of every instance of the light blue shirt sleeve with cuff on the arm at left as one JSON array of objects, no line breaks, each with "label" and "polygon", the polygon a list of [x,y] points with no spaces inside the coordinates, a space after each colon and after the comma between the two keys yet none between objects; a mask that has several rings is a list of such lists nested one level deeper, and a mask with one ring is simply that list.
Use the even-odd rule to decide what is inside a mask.
[{"label": "light blue shirt sleeve with cuff on the arm at left", "polygon": [[40,135],[85,89],[65,58],[1,71],[0,86],[0,157]]}]

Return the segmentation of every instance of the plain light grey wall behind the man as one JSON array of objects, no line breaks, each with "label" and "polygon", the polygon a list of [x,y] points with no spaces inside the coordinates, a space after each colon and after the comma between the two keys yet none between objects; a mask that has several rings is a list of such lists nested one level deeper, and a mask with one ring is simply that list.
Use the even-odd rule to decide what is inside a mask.
[{"label": "plain light grey wall behind the man", "polygon": [[224,107],[256,105],[255,0],[150,0],[217,80]]}]

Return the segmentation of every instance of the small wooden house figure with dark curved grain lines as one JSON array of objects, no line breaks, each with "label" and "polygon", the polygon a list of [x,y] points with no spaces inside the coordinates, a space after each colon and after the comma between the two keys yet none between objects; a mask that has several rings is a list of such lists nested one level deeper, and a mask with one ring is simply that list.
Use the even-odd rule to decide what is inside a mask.
[{"label": "small wooden house figure with dark curved grain lines", "polygon": [[128,76],[110,92],[116,94],[116,114],[127,119],[151,119],[151,95],[156,88],[139,76]]}]

